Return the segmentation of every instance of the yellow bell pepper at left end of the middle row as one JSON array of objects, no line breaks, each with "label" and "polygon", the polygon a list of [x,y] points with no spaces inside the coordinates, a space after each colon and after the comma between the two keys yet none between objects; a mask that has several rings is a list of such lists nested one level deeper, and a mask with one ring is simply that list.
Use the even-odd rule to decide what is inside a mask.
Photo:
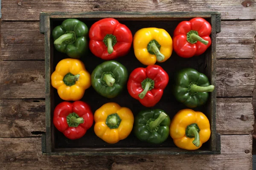
[{"label": "yellow bell pepper at left end of the middle row", "polygon": [[91,85],[90,73],[79,59],[62,59],[52,73],[51,83],[61,99],[80,100]]}]

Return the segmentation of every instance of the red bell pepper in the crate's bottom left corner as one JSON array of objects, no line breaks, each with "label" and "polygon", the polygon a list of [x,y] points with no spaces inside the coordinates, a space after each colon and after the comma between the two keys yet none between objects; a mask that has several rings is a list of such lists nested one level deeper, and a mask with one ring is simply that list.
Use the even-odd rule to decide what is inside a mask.
[{"label": "red bell pepper in the crate's bottom left corner", "polygon": [[79,139],[93,125],[93,113],[85,102],[61,102],[54,109],[53,124],[68,139]]}]

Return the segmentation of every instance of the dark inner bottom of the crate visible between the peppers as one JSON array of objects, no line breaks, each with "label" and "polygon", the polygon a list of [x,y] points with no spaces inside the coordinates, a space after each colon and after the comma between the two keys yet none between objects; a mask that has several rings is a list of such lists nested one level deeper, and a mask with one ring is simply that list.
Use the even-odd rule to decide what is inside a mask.
[{"label": "dark inner bottom of the crate visible between the peppers", "polygon": [[[83,21],[88,26],[89,29],[90,29],[90,26],[97,21],[95,19],[83,19],[83,18],[78,18],[78,19]],[[51,30],[55,26],[60,25],[63,20],[64,19],[61,19],[61,20],[60,19],[51,19]],[[100,19],[98,19],[98,20],[100,20]],[[117,19],[117,20],[119,20],[120,23],[128,26],[128,28],[131,30],[133,36],[134,36],[135,32],[137,30],[139,30],[140,28],[156,27],[156,28],[165,29],[170,34],[170,36],[172,38],[173,38],[174,29],[176,28],[178,23],[180,23],[182,21],[182,20],[134,20],[134,19],[129,20],[127,18],[125,18],[125,20],[122,20],[122,19]],[[189,20],[189,19],[186,18],[186,20]],[[206,18],[206,20],[210,23],[210,18]],[[50,42],[51,43],[53,42],[52,36],[51,36]],[[54,46],[51,45],[51,48],[54,48]],[[207,55],[207,53],[208,53],[208,55]],[[204,54],[202,54],[201,56],[192,57],[192,58],[182,58],[182,57],[179,57],[175,53],[175,51],[172,51],[171,57],[166,62],[163,62],[163,63],[156,62],[157,65],[160,65],[161,67],[163,67],[163,69],[169,74],[169,84],[167,85],[166,89],[164,90],[162,99],[160,100],[160,102],[157,103],[157,105],[155,105],[153,107],[153,109],[154,108],[163,109],[164,111],[166,111],[166,113],[168,113],[168,115],[172,119],[172,117],[175,115],[175,113],[177,113],[181,109],[186,108],[185,105],[183,105],[180,102],[177,102],[171,93],[171,85],[173,82],[174,73],[175,73],[175,71],[178,71],[181,68],[191,67],[191,68],[196,69],[199,72],[206,74],[207,56],[211,57],[211,55],[209,55],[209,53],[211,53],[211,47],[209,47],[207,49],[207,51]],[[68,58],[66,54],[60,53],[60,52],[56,51],[55,49],[53,49],[52,55],[53,55],[52,71],[55,70],[57,63],[61,59]],[[91,52],[89,52],[89,54],[86,57],[81,58],[81,60],[84,62],[85,68],[87,69],[87,71],[90,72],[90,74],[92,73],[93,69],[97,65],[99,65],[100,63],[105,61],[103,59],[100,59],[100,58],[94,56]],[[132,45],[131,50],[128,55],[126,55],[124,57],[119,57],[115,60],[118,62],[121,62],[128,69],[128,74],[131,74],[131,71],[133,71],[135,68],[138,68],[138,67],[145,68],[146,67],[146,65],[143,65],[142,63],[140,63],[140,61],[135,57],[133,45]],[[208,78],[209,78],[209,81],[211,81],[210,77],[208,77]],[[60,102],[63,102],[63,100],[60,99],[60,97],[58,96],[57,90],[55,88],[53,88],[53,92],[54,92],[54,94],[53,94],[54,99],[51,102],[53,104],[52,108],[55,108],[56,105],[58,105]],[[209,121],[211,122],[211,120],[210,120],[211,113],[207,113],[207,106],[209,106],[210,99],[211,98],[209,96],[209,99],[208,99],[208,102],[206,105],[204,105],[202,107],[198,107],[198,108],[192,108],[192,109],[195,111],[201,111],[204,114],[206,114]],[[97,94],[96,91],[91,86],[90,88],[88,88],[85,91],[84,96],[81,100],[84,102],[87,102],[91,106],[93,113],[96,111],[96,109],[100,108],[103,104],[105,104],[107,102],[116,102],[121,107],[130,108],[134,114],[134,118],[139,111],[148,109],[148,108],[144,107],[143,105],[141,105],[139,101],[132,98],[128,94],[126,87],[124,88],[122,93],[119,94],[119,96],[117,96],[116,98],[113,98],[113,99],[108,99],[108,98],[105,98],[105,97]],[[53,115],[53,111],[51,113],[51,116],[52,115]],[[93,126],[94,126],[94,123],[93,123]],[[154,144],[149,144],[146,142],[139,141],[139,139],[137,139],[136,136],[134,136],[133,131],[126,139],[121,140],[116,144],[108,144],[96,136],[96,134],[94,133],[94,130],[93,130],[93,126],[87,131],[87,133],[83,137],[81,137],[80,139],[76,139],[76,140],[67,139],[64,136],[64,134],[59,132],[54,127],[53,133],[55,136],[54,137],[55,138],[55,148],[56,149],[57,148],[59,148],[59,149],[64,149],[64,148],[94,148],[94,149],[96,149],[96,148],[102,148],[102,149],[103,148],[106,148],[106,149],[107,148],[124,148],[125,149],[126,148],[126,149],[128,149],[128,148],[136,148],[136,147],[140,147],[140,148],[154,147],[154,148],[170,148],[170,149],[174,148],[174,147],[177,148],[175,146],[175,144],[173,143],[171,136],[169,136],[168,139],[164,143],[154,145]],[[200,148],[200,150],[208,150],[209,151],[210,150],[209,141],[204,143],[203,146]]]}]

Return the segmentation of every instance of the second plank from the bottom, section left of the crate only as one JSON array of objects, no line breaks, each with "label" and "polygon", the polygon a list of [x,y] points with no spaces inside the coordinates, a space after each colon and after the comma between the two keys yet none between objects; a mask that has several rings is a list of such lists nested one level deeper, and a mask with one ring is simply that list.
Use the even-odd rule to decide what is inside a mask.
[{"label": "second plank from the bottom, section left of the crate only", "polygon": [[0,100],[0,137],[41,136],[45,132],[45,101]]}]

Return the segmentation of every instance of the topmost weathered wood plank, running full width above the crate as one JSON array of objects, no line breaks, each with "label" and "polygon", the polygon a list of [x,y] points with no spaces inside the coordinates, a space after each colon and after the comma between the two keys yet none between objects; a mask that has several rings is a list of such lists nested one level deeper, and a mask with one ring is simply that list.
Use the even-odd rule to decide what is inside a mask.
[{"label": "topmost weathered wood plank, running full width above the crate", "polygon": [[[143,6],[143,8],[141,8]],[[221,19],[255,19],[254,0],[3,0],[3,20],[39,20],[40,11],[219,11]]]}]

